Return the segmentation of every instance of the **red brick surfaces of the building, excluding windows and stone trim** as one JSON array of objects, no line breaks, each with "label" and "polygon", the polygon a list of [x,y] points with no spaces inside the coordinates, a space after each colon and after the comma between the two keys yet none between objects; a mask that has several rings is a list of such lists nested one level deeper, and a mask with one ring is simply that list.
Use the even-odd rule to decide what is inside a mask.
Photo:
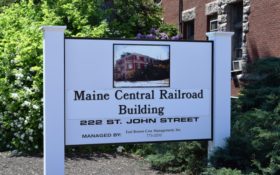
[{"label": "red brick surfaces of the building, excluding windows and stone trim", "polygon": [[[205,40],[207,16],[205,5],[214,0],[183,0],[183,11],[196,8],[195,40]],[[242,0],[241,0],[242,2]],[[179,0],[162,0],[164,21],[179,28]],[[280,1],[251,0],[249,31],[246,35],[249,61],[267,57],[280,57]]]}]

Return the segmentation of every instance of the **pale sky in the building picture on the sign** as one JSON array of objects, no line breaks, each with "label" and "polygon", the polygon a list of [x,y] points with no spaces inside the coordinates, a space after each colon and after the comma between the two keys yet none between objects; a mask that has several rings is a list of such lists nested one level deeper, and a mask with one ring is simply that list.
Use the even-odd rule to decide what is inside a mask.
[{"label": "pale sky in the building picture on the sign", "polygon": [[159,60],[166,60],[169,58],[169,46],[115,45],[114,47],[115,60],[120,59],[121,55],[126,52],[148,55]]}]

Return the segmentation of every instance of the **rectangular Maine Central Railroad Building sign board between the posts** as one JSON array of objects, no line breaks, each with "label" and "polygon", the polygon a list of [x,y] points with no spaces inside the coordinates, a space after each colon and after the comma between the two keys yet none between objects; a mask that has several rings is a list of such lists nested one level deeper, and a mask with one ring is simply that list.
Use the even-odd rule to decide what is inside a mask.
[{"label": "rectangular Maine Central Railroad Building sign board between the posts", "polygon": [[211,140],[212,47],[66,38],[66,145]]}]

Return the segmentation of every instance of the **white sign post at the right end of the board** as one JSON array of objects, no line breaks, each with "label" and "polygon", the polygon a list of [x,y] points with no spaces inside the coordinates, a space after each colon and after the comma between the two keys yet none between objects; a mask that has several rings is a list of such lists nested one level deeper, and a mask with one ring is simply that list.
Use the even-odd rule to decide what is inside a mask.
[{"label": "white sign post at the right end of the board", "polygon": [[210,41],[214,41],[213,140],[208,142],[208,157],[215,148],[225,146],[226,139],[230,137],[230,70],[233,34],[233,32],[206,34]]}]

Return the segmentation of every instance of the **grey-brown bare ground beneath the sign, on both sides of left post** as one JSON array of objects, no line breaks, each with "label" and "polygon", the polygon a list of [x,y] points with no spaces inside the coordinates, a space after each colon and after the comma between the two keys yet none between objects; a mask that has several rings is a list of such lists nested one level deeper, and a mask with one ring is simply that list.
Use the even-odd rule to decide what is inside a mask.
[{"label": "grey-brown bare ground beneath the sign, on both sides of left post", "polygon": [[[0,175],[41,175],[43,157],[0,152]],[[125,154],[90,154],[65,159],[66,175],[172,175],[150,168],[143,159]]]}]

